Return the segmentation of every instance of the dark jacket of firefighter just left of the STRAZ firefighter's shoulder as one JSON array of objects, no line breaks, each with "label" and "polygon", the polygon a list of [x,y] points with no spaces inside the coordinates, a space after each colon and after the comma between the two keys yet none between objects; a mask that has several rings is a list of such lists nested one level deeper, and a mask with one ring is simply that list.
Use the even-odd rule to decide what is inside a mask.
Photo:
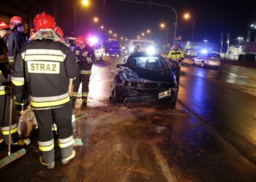
[{"label": "dark jacket of firefighter just left of the STRAZ firefighter's shoulder", "polygon": [[8,59],[10,63],[14,62],[15,54],[17,54],[20,47],[23,47],[25,44],[26,36],[23,33],[18,32],[17,30],[13,30],[7,39]]}]

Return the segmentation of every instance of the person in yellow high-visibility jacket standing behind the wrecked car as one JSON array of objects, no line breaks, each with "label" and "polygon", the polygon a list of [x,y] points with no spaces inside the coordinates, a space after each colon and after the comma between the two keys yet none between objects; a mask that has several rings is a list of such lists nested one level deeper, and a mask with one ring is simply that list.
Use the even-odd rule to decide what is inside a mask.
[{"label": "person in yellow high-visibility jacket standing behind the wrecked car", "polygon": [[184,60],[184,53],[178,49],[178,44],[173,45],[173,49],[168,54],[169,66],[174,64],[176,66],[176,81],[179,85],[179,76],[181,74],[181,62]]}]

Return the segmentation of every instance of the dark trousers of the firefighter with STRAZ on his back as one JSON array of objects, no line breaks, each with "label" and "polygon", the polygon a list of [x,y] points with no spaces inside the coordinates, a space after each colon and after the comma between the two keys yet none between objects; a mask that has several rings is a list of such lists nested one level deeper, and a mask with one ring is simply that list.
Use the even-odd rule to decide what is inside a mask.
[{"label": "dark trousers of the firefighter with STRAZ on his back", "polygon": [[38,124],[38,145],[42,152],[44,162],[50,164],[54,161],[54,140],[52,125],[57,126],[59,136],[59,148],[61,159],[67,159],[72,155],[72,108],[70,103],[65,103],[60,108],[34,110]]}]

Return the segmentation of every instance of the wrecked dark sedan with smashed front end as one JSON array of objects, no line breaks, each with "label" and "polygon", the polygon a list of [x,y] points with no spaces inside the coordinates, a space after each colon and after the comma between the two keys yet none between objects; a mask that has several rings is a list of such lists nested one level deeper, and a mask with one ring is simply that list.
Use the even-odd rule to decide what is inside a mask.
[{"label": "wrecked dark sedan with smashed front end", "polygon": [[116,103],[170,103],[171,108],[176,107],[176,76],[161,55],[135,52],[117,68],[111,94]]}]

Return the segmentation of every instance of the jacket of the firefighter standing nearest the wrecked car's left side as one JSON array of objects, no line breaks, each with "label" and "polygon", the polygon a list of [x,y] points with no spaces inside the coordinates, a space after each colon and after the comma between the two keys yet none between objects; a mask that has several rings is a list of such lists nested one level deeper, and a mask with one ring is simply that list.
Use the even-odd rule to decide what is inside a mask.
[{"label": "jacket of the firefighter standing nearest the wrecked car's left side", "polygon": [[92,61],[95,58],[94,49],[88,45],[83,49],[75,47],[74,54],[80,69],[79,74],[91,74]]}]

